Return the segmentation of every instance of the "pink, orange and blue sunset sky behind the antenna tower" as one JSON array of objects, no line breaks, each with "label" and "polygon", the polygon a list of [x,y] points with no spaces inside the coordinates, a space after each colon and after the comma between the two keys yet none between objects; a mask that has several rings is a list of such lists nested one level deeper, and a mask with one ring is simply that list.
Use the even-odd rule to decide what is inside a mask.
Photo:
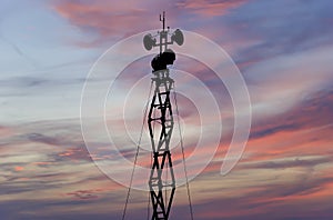
[{"label": "pink, orange and blue sunset sky behind the antenna tower", "polygon": [[[171,29],[195,32],[221,47],[230,60],[216,64],[238,67],[251,100],[244,152],[221,176],[235,124],[233,101],[243,96],[241,88],[233,87],[240,92],[231,94],[211,68],[193,58],[178,54],[171,67],[176,90],[183,91],[178,106],[185,156],[199,164],[213,153],[202,171],[189,164],[194,219],[333,219],[332,10],[331,0],[2,0],[1,219],[121,219],[128,188],[110,176],[123,174],[129,181],[130,170],[122,167],[114,147],[133,161],[153,54],[147,52],[118,73],[112,64],[133,54],[132,46],[115,58],[108,57],[108,49],[160,29],[162,11]],[[204,44],[191,47],[214,58]],[[102,78],[89,78],[94,71],[103,72]],[[112,77],[113,87],[108,81]],[[233,76],[226,71],[225,77]],[[89,137],[83,139],[80,108],[87,82],[94,90],[85,109],[90,114],[83,119]],[[94,100],[105,83],[110,88],[102,97],[103,114],[93,107],[100,104]],[[201,87],[209,89],[218,112],[211,112],[214,108]],[[97,117],[105,119],[113,141],[99,132]],[[219,124],[216,143],[212,133]],[[172,156],[181,166],[174,129]],[[204,149],[195,151],[200,138]],[[149,168],[147,127],[141,147],[138,166]],[[110,173],[97,161],[108,164]],[[134,177],[135,186],[148,181],[140,173]],[[178,180],[184,180],[181,171]],[[148,207],[148,192],[131,190],[127,219],[147,218]],[[170,219],[190,219],[184,186],[176,188]]]}]

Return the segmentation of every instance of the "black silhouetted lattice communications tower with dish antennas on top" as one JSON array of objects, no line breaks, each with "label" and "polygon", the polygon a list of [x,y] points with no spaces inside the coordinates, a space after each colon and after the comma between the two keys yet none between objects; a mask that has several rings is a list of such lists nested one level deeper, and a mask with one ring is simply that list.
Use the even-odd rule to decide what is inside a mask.
[{"label": "black silhouetted lattice communications tower with dish antennas on top", "polygon": [[[172,168],[172,157],[170,152],[170,141],[173,131],[172,103],[170,91],[173,88],[174,80],[170,77],[168,64],[175,60],[175,53],[168,48],[169,44],[176,42],[181,46],[184,41],[182,32],[176,29],[171,34],[170,29],[165,30],[165,13],[160,16],[163,29],[159,31],[159,42],[151,34],[143,38],[143,44],[147,50],[153,47],[160,48],[160,53],[152,61],[152,82],[154,94],[150,103],[148,113],[148,126],[152,147],[152,167],[149,179],[150,200],[152,204],[152,220],[168,220],[174,192],[175,179]],[[163,181],[163,177],[170,176],[170,181]]]}]

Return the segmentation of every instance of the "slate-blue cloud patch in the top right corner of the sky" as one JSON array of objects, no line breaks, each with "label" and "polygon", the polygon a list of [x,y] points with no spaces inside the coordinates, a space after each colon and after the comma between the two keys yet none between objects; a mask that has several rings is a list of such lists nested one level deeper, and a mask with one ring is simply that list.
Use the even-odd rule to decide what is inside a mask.
[{"label": "slate-blue cloud patch in the top right corner of the sky", "polygon": [[240,8],[238,14],[230,14],[226,23],[232,30],[239,27],[238,32],[248,39],[260,39],[240,51],[241,59],[268,59],[330,44],[331,7],[330,1],[252,1]]}]

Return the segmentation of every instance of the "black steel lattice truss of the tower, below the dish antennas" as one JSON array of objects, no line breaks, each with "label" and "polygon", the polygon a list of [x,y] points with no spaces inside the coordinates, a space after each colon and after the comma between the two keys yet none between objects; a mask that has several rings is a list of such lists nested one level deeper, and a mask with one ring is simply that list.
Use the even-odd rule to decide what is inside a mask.
[{"label": "black steel lattice truss of the tower, below the dish antennas", "polygon": [[[153,161],[149,180],[153,209],[151,219],[167,220],[175,191],[175,180],[170,153],[170,140],[174,124],[170,90],[174,81],[169,77],[169,69],[153,73],[154,94],[148,116],[149,132],[153,150]],[[168,178],[169,173],[170,181],[163,181],[165,177]]]}]

